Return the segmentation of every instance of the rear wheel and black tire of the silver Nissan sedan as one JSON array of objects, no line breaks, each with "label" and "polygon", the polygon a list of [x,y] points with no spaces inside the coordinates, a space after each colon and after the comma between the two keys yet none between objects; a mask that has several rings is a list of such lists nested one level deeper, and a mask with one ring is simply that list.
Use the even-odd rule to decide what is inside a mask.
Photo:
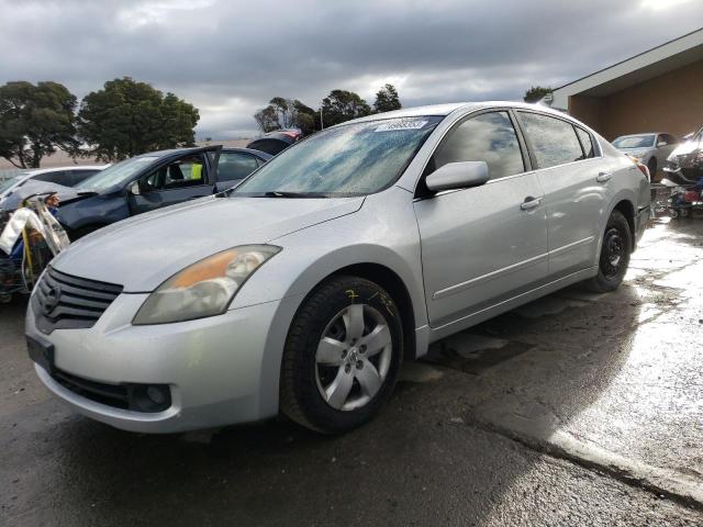
[{"label": "rear wheel and black tire of the silver Nissan sedan", "polygon": [[613,211],[603,233],[598,274],[585,282],[587,288],[594,293],[615,291],[627,272],[632,247],[633,234],[627,220],[620,211]]}]

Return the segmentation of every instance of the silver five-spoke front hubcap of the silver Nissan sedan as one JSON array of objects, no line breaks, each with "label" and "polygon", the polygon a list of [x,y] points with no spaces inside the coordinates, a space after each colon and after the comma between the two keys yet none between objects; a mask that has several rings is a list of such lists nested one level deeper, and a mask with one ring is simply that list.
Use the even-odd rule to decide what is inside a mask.
[{"label": "silver five-spoke front hubcap of the silver Nissan sedan", "polygon": [[315,352],[317,390],[330,406],[348,412],[371,401],[381,389],[392,357],[383,316],[367,304],[337,313]]}]

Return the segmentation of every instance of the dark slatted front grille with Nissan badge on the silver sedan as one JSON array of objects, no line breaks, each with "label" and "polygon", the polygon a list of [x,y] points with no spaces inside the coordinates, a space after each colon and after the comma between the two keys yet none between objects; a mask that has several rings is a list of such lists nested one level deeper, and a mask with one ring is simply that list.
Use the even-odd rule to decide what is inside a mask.
[{"label": "dark slatted front grille with Nissan badge on the silver sedan", "polygon": [[49,267],[32,298],[36,326],[44,334],[92,327],[121,292],[122,285],[72,277]]}]

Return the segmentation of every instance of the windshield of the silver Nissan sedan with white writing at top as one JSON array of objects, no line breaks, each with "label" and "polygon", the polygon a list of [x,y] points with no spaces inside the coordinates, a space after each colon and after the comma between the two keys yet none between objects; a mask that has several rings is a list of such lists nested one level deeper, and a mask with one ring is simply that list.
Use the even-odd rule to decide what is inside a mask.
[{"label": "windshield of the silver Nissan sedan with white writing at top", "polygon": [[440,116],[335,126],[283,150],[232,195],[370,194],[392,184]]}]

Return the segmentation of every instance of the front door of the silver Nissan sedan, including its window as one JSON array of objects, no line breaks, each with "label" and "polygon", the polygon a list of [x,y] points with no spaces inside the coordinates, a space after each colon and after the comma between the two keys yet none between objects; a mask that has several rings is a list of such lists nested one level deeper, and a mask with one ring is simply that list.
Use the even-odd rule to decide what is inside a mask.
[{"label": "front door of the silver Nissan sedan, including its window", "polygon": [[[486,184],[415,201],[429,325],[434,328],[534,289],[547,274],[543,192],[509,111],[459,122],[425,176],[455,161],[486,161]],[[421,182],[420,189],[423,188]]]}]

